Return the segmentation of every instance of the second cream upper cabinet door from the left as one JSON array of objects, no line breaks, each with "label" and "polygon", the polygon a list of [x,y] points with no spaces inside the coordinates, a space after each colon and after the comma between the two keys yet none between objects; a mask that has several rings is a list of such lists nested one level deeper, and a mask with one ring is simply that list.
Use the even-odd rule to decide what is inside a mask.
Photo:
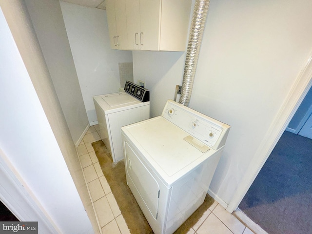
[{"label": "second cream upper cabinet door from the left", "polygon": [[117,49],[128,49],[127,18],[125,0],[115,0],[115,17],[117,28]]}]

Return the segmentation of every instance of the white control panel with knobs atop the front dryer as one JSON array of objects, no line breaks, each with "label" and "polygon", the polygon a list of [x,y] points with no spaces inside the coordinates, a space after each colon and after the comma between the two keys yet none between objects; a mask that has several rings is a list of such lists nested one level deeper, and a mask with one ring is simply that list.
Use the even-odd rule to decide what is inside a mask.
[{"label": "white control panel with knobs atop the front dryer", "polygon": [[162,117],[217,150],[225,144],[230,126],[173,100],[168,100]]}]

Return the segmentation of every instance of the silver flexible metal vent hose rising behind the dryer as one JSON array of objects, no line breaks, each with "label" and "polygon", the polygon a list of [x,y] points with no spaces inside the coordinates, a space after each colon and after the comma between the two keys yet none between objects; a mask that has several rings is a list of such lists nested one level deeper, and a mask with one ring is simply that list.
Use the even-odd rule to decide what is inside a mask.
[{"label": "silver flexible metal vent hose rising behind the dryer", "polygon": [[210,0],[195,0],[179,103],[189,104]]}]

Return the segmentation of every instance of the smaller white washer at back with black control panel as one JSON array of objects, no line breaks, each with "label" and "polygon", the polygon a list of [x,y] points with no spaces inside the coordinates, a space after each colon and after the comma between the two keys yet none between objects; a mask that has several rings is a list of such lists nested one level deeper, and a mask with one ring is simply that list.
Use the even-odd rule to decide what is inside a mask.
[{"label": "smaller white washer at back with black control panel", "polygon": [[99,135],[114,162],[123,159],[120,128],[150,117],[149,91],[130,81],[124,90],[93,97]]}]

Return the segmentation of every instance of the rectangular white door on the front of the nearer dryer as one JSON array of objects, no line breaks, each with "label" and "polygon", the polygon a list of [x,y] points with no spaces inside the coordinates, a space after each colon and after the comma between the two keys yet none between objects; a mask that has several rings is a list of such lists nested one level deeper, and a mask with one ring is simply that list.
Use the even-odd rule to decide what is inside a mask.
[{"label": "rectangular white door on the front of the nearer dryer", "polygon": [[149,211],[155,219],[158,213],[159,184],[127,142],[125,144],[128,185],[141,210]]}]

